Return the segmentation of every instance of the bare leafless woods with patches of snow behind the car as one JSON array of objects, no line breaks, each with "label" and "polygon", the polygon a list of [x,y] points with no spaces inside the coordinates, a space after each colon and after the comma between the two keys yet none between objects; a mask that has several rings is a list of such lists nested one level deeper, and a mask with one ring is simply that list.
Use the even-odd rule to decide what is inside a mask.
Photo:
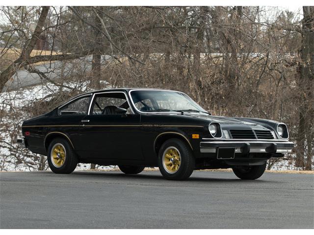
[{"label": "bare leafless woods with patches of snow behind the car", "polygon": [[[314,6],[0,7],[0,170],[44,170],[24,119],[108,87],[174,89],[213,115],[287,123],[314,160]],[[268,162],[268,169],[276,161]],[[94,166],[92,166],[94,167]]]}]

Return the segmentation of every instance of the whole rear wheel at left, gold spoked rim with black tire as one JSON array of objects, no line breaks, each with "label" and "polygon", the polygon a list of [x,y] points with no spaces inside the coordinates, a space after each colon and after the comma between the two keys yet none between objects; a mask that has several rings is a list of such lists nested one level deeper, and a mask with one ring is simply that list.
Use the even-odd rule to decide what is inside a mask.
[{"label": "whole rear wheel at left, gold spoked rim with black tire", "polygon": [[68,141],[55,138],[48,147],[48,164],[54,173],[69,174],[77,167],[78,158]]}]

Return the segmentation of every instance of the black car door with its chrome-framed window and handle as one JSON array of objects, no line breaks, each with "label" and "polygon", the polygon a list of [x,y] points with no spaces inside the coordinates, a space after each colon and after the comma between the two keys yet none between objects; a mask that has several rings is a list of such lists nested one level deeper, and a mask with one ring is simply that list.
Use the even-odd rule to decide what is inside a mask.
[{"label": "black car door with its chrome-framed window and handle", "polygon": [[[125,108],[127,113],[118,114],[114,107]],[[110,109],[111,113],[105,111]],[[83,158],[142,160],[139,130],[140,115],[133,113],[124,92],[96,93],[89,115],[80,127],[80,155]]]}]

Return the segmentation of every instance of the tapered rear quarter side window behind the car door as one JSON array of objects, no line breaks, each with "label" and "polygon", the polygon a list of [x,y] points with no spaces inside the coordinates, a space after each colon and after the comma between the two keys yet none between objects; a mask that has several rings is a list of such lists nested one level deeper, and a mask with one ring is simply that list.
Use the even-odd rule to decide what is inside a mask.
[{"label": "tapered rear quarter side window behind the car door", "polygon": [[87,115],[90,95],[78,98],[59,110],[60,115]]}]

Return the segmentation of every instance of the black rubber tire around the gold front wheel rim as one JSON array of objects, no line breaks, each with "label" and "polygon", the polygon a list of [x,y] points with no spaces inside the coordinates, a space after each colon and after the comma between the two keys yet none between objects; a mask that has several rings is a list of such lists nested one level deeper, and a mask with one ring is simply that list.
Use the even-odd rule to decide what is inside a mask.
[{"label": "black rubber tire around the gold front wheel rim", "polygon": [[[167,155],[167,151],[171,149],[177,150],[180,155],[180,166],[178,169],[175,169],[174,172],[170,172],[169,164],[167,164],[167,160],[164,161],[165,155]],[[174,155],[176,156],[176,155]],[[171,161],[171,163],[169,162]],[[171,158],[168,163],[170,163],[170,167],[175,164],[176,157]],[[174,162],[172,162],[174,161]],[[185,142],[179,139],[169,139],[165,141],[159,151],[158,151],[158,166],[160,173],[167,180],[187,180],[190,175],[193,173],[195,168],[195,159],[193,157],[190,146],[188,146]]]}]

